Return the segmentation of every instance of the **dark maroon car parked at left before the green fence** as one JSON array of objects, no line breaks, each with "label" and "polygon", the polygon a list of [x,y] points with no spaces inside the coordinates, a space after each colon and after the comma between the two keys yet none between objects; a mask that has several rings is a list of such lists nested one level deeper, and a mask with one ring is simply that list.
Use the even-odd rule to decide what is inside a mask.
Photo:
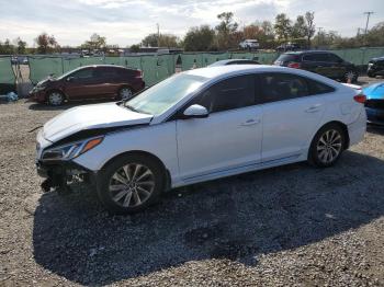
[{"label": "dark maroon car parked at left before the green fence", "polygon": [[67,101],[90,99],[129,99],[143,90],[140,70],[113,65],[86,66],[58,78],[48,77],[31,91],[30,99],[39,103],[60,105]]}]

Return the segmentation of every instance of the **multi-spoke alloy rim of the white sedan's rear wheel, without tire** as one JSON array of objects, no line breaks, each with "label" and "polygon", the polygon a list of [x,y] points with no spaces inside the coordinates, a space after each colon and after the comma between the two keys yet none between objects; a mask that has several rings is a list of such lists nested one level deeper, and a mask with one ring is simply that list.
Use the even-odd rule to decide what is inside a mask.
[{"label": "multi-spoke alloy rim of the white sedan's rear wheel, without tire", "polygon": [[335,129],[324,133],[317,142],[317,156],[324,163],[332,162],[341,151],[341,135]]}]

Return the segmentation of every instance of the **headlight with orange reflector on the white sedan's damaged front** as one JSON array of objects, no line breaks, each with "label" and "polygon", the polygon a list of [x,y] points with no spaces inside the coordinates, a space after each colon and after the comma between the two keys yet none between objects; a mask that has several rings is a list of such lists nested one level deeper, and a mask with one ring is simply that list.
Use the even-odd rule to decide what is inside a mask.
[{"label": "headlight with orange reflector on the white sedan's damaged front", "polygon": [[43,160],[71,160],[93,149],[103,141],[104,136],[71,142],[60,147],[47,149],[43,152]]}]

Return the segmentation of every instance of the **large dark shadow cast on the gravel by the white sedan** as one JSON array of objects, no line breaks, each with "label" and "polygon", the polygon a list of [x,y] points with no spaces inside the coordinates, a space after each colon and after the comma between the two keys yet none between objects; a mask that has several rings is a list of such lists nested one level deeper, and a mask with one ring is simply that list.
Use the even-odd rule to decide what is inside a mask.
[{"label": "large dark shadow cast on the gravel by the white sedan", "polygon": [[384,214],[384,161],[347,151],[329,169],[290,164],[166,194],[133,216],[103,211],[94,192],[44,194],[34,215],[35,261],[83,285],[112,284],[189,261],[256,265]]}]

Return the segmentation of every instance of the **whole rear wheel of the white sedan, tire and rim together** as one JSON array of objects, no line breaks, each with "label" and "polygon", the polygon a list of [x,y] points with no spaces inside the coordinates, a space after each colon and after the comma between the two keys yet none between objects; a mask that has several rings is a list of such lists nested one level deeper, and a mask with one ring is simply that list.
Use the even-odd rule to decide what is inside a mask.
[{"label": "whole rear wheel of the white sedan, tire and rim together", "polygon": [[334,165],[346,149],[346,134],[338,124],[321,127],[310,142],[308,162],[318,168]]}]

